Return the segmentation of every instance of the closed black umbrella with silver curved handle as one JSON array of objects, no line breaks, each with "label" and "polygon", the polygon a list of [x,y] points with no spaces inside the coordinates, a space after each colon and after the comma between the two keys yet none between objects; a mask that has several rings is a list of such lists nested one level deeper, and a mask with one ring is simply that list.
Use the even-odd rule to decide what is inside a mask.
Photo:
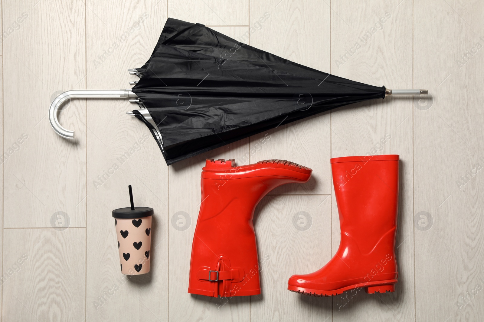
[{"label": "closed black umbrella with silver curved handle", "polygon": [[[128,112],[150,128],[168,165],[279,125],[347,104],[424,90],[388,90],[314,70],[237,42],[201,24],[168,19],[131,90],[109,97],[138,97]],[[82,92],[82,93],[80,93]],[[73,132],[57,121],[72,97],[103,97],[106,91],[68,91],[51,105],[56,132]]]}]

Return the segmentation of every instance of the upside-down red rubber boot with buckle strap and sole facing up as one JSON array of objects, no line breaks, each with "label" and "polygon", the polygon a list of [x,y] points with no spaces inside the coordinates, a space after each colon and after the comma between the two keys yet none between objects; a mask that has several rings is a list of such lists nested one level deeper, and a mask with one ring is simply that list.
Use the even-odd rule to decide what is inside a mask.
[{"label": "upside-down red rubber boot with buckle strap and sole facing up", "polygon": [[252,219],[269,191],[307,182],[312,170],[285,160],[235,167],[234,160],[207,160],[202,202],[193,237],[188,293],[207,296],[260,294]]}]

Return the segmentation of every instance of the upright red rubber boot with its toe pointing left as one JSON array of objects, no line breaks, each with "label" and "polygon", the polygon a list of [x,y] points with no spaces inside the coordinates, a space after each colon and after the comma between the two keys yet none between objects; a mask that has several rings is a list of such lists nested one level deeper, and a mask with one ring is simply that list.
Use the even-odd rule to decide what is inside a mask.
[{"label": "upright red rubber boot with its toe pointing left", "polygon": [[398,160],[395,154],[331,159],[339,248],[318,271],[291,276],[289,291],[316,296],[362,287],[366,293],[394,291]]}]

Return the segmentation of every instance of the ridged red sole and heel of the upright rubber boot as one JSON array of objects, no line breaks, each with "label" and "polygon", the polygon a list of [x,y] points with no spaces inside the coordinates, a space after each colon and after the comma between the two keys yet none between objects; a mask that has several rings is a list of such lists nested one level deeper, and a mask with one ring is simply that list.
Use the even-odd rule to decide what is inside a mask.
[{"label": "ridged red sole and heel of the upright rubber boot", "polygon": [[374,294],[376,292],[378,293],[395,292],[395,283],[397,281],[398,280],[379,280],[374,282],[354,284],[337,290],[330,290],[330,291],[308,289],[305,287],[298,287],[298,286],[292,286],[292,285],[288,285],[287,289],[291,292],[295,292],[298,294],[321,297],[321,296],[339,295],[339,294],[343,294],[343,292],[348,290],[364,287],[366,293]]}]

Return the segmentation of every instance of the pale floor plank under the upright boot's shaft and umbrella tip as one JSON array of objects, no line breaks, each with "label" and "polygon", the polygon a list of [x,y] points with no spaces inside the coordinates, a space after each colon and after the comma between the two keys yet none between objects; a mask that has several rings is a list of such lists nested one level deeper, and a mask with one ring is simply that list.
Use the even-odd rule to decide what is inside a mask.
[{"label": "pale floor plank under the upright boot's shaft and umbrella tip", "polygon": [[[412,87],[412,3],[399,2],[332,2],[332,74],[394,89]],[[371,36],[364,36],[367,32]],[[355,53],[341,58],[346,51]],[[363,291],[356,296],[348,292],[334,296],[333,321],[354,321],[355,317],[358,321],[415,319],[412,108],[409,99],[385,98],[339,108],[331,114],[332,157],[400,154],[401,160],[396,247],[401,245],[396,250],[399,282],[395,293]],[[334,253],[340,230],[334,187],[332,191]]]}]

